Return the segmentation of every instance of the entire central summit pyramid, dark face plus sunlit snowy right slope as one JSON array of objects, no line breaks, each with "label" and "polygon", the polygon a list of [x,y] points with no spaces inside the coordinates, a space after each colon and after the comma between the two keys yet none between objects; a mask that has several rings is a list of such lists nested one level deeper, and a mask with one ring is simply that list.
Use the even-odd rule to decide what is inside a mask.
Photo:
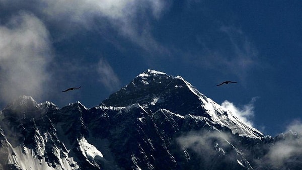
[{"label": "entire central summit pyramid, dark face plus sunlit snowy right slope", "polygon": [[205,117],[212,124],[228,127],[241,136],[263,136],[257,129],[246,125],[230,111],[201,94],[181,76],[155,70],[144,71],[127,86],[110,95],[101,105],[126,107],[135,103],[151,112],[166,109],[180,116]]}]

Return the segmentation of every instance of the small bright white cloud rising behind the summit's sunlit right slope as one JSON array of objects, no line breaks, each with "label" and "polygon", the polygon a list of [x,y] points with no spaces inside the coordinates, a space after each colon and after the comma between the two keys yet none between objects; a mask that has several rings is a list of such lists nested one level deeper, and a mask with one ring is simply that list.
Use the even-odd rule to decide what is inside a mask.
[{"label": "small bright white cloud rising behind the summit's sunlit right slope", "polygon": [[231,111],[232,114],[239,118],[243,123],[252,127],[253,122],[251,119],[254,117],[254,103],[256,99],[257,97],[253,98],[250,103],[243,107],[236,107],[232,102],[225,100],[222,102],[221,107]]}]

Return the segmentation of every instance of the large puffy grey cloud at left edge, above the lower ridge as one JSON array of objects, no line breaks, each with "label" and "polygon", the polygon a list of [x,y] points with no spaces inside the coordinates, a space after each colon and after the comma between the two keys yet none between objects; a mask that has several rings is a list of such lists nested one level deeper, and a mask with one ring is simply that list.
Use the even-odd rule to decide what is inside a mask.
[{"label": "large puffy grey cloud at left edge, above the lower ridge", "polygon": [[20,95],[39,99],[47,94],[51,45],[48,31],[37,17],[21,12],[0,25],[0,51],[2,101]]}]

